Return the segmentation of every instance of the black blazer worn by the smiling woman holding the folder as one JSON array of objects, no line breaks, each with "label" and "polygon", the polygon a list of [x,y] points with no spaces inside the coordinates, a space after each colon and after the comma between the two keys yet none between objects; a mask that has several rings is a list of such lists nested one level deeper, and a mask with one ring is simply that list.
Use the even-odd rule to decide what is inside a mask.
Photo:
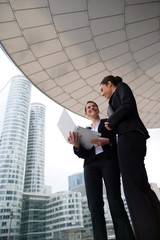
[{"label": "black blazer worn by the smiling woman holding the folder", "polygon": [[[104,158],[110,159],[110,158],[117,158],[117,149],[116,149],[116,136],[113,131],[108,131],[105,126],[104,122],[106,122],[107,119],[101,119],[100,124],[98,127],[98,132],[101,133],[101,137],[109,138],[112,146],[104,145],[103,148],[103,154]],[[95,147],[93,146],[91,149],[85,149],[83,146],[80,145],[80,149],[77,151],[75,147],[73,147],[74,153],[79,157],[84,159],[84,165],[87,163],[95,160]]]}]

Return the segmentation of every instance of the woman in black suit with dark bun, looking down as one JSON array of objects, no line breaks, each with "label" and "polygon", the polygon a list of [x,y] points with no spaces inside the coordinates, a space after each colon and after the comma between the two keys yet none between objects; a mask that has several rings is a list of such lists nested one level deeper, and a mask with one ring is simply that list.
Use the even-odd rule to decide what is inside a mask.
[{"label": "woman in black suit with dark bun, looking down", "polygon": [[139,117],[135,98],[118,76],[105,77],[100,88],[112,110],[105,126],[118,134],[120,172],[136,239],[160,240],[160,203],[150,188],[144,165],[149,135]]}]

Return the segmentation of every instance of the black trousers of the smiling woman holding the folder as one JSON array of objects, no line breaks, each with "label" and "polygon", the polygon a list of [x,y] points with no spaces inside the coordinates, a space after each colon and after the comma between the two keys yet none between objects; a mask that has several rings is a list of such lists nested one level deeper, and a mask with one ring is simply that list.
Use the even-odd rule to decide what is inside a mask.
[{"label": "black trousers of the smiling woman holding the folder", "polygon": [[104,179],[110,212],[117,240],[134,240],[134,234],[120,192],[120,171],[117,159],[104,159],[103,153],[84,166],[88,207],[91,213],[94,240],[107,240],[104,217]]}]

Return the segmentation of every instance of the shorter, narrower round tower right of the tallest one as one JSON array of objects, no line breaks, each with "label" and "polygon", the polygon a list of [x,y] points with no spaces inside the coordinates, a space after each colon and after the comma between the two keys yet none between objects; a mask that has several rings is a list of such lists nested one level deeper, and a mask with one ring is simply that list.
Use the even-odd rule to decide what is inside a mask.
[{"label": "shorter, narrower round tower right of the tallest one", "polygon": [[45,106],[31,104],[24,192],[44,193]]}]

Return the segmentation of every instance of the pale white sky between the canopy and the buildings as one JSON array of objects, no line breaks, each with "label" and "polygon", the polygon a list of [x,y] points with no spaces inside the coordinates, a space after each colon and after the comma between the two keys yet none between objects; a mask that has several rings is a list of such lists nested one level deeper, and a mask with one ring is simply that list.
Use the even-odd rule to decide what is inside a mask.
[{"label": "pale white sky between the canopy and the buildings", "polygon": [[[21,74],[17,67],[0,49],[0,92],[11,77]],[[3,92],[3,91],[2,91]],[[0,93],[1,99],[2,93]],[[49,99],[36,87],[32,87],[31,102],[39,102],[46,106],[45,124],[45,185],[52,187],[52,192],[68,190],[68,176],[83,172],[83,159],[73,153],[73,147],[63,138],[57,123],[63,107]],[[85,127],[89,120],[70,111],[76,125]],[[146,170],[150,183],[160,187],[160,129],[148,129]]]}]

